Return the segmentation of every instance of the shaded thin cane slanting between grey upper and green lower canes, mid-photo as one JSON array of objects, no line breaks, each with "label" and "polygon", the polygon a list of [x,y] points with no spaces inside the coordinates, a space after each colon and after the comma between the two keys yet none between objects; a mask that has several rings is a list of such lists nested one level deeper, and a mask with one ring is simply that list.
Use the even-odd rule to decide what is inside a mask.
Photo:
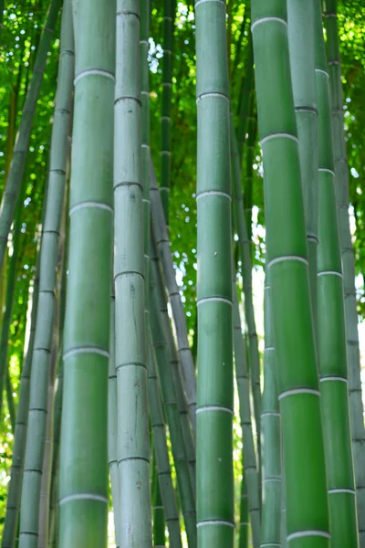
[{"label": "shaded thin cane slanting between grey upper and green lower canes, mid-photo", "polygon": [[167,344],[167,352],[169,356],[169,362],[171,365],[173,384],[175,386],[177,404],[179,407],[180,420],[183,430],[183,442],[186,451],[186,457],[189,463],[190,476],[192,479],[193,494],[195,498],[195,448],[193,443],[192,429],[190,426],[188,406],[186,403],[185,395],[183,393],[183,380],[180,372],[179,358],[175,348],[175,341],[172,332],[172,323],[170,321],[168,309],[166,291],[164,286],[163,272],[160,264],[160,258],[158,257],[157,248],[153,238],[151,237],[151,275],[155,280],[154,289],[157,292],[157,300],[159,310],[161,311],[162,318],[162,330],[164,340]]}]

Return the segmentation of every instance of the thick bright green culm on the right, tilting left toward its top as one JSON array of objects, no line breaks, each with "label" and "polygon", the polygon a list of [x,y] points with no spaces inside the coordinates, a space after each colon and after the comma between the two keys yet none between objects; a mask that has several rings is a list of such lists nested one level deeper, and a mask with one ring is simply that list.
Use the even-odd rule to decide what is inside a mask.
[{"label": "thick bright green culm on the right, tilting left toward its top", "polygon": [[[289,67],[287,2],[252,0],[251,7],[258,130],[265,173],[266,269],[284,439],[287,542],[291,548],[328,548],[328,494]],[[287,205],[286,215],[283,204]]]}]

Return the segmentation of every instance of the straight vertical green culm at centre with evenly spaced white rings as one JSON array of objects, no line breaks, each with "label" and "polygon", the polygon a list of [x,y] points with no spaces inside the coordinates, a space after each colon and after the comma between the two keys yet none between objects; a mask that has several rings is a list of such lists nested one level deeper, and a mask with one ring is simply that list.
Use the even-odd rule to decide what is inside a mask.
[{"label": "straight vertical green culm at centre with evenly spaced white rings", "polygon": [[199,548],[234,545],[233,287],[225,2],[197,1],[196,98]]}]

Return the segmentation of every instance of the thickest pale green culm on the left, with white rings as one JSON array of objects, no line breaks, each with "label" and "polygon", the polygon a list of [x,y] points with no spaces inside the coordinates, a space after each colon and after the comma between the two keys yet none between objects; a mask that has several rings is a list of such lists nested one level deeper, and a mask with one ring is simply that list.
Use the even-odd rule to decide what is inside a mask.
[{"label": "thickest pale green culm on the left, with white rings", "polygon": [[[74,0],[59,548],[107,545],[115,2]],[[92,235],[92,237],[91,237]]]}]

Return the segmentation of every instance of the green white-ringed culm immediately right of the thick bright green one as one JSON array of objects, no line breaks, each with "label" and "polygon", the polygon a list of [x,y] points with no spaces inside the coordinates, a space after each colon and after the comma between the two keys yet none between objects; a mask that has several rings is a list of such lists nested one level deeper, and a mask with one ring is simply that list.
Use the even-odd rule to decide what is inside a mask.
[{"label": "green white-ringed culm immediately right of the thick bright green one", "polygon": [[331,546],[358,546],[349,428],[346,328],[335,197],[328,68],[320,0],[315,3],[318,101],[318,350]]}]

